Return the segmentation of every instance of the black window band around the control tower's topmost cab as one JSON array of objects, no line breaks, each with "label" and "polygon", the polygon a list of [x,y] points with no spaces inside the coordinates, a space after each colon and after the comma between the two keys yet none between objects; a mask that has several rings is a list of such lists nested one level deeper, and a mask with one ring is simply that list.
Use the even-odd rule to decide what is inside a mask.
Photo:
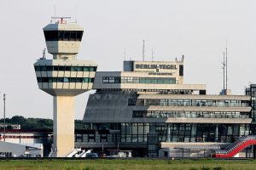
[{"label": "black window band around the control tower's topmost cab", "polygon": [[44,31],[46,41],[81,41],[84,31]]}]

